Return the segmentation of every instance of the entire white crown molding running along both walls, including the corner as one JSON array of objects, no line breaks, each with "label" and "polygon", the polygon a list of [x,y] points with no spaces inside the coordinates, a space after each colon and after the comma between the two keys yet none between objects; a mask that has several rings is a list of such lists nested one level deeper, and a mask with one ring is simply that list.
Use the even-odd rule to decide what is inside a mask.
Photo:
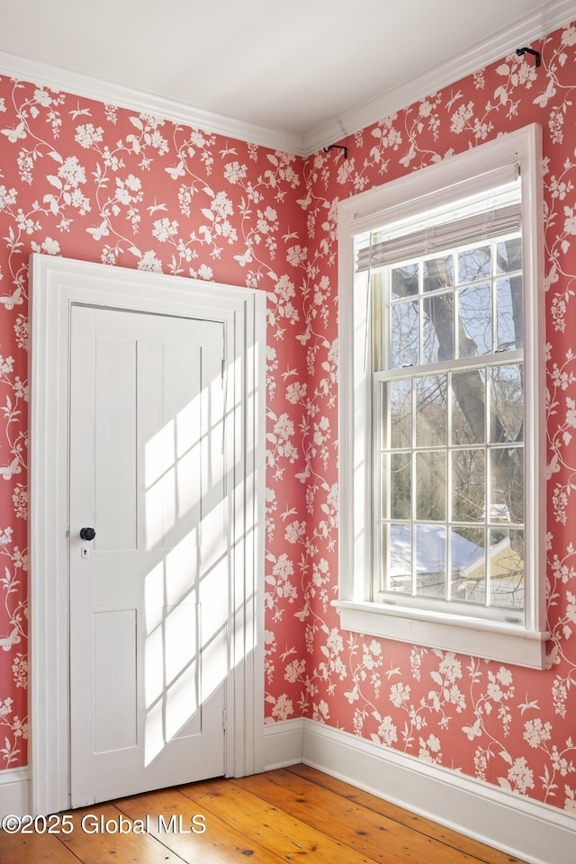
[{"label": "entire white crown molding running along both walls, including the corner", "polygon": [[425,75],[392,87],[304,135],[239,121],[159,94],[114,84],[112,81],[52,66],[10,51],[0,50],[0,75],[31,81],[98,102],[115,104],[131,111],[149,113],[224,137],[284,150],[295,156],[308,157],[320,148],[352,135],[383,117],[436,93],[442,87],[454,84],[478,69],[506,57],[517,48],[541,39],[575,18],[573,0],[548,0],[536,12],[520,19],[506,30],[498,31],[491,39],[478,43]]}]

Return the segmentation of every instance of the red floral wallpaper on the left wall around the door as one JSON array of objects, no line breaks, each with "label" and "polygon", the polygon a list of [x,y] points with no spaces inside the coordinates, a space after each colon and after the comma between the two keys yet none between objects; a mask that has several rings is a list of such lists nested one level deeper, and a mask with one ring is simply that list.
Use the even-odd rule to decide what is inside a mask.
[{"label": "red floral wallpaper on the left wall around the door", "polygon": [[[287,153],[3,79],[0,155],[0,768],[9,768],[27,761],[29,254],[266,291],[268,511],[305,526],[302,484],[284,476],[300,458],[296,421],[276,385],[305,368],[285,335],[299,320],[295,280],[306,252],[295,203],[302,159]],[[270,554],[282,562],[283,540],[269,530]]]}]

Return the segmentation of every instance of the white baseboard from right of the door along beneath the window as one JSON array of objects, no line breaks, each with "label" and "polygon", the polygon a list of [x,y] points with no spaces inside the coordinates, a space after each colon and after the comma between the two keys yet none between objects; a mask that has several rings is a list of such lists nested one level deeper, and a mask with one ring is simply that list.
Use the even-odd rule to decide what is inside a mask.
[{"label": "white baseboard from right of the door along beneath the window", "polygon": [[265,734],[267,770],[303,761],[528,864],[576,864],[576,815],[313,720]]}]

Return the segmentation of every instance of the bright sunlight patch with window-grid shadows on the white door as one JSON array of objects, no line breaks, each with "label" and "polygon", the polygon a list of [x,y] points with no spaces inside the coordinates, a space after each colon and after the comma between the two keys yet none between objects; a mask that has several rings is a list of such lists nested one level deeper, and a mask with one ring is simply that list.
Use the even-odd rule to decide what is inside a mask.
[{"label": "bright sunlight patch with window-grid shadows on the white door", "polygon": [[146,765],[202,733],[202,705],[229,671],[223,401],[219,374],[145,446],[146,547],[162,554],[144,586]]}]

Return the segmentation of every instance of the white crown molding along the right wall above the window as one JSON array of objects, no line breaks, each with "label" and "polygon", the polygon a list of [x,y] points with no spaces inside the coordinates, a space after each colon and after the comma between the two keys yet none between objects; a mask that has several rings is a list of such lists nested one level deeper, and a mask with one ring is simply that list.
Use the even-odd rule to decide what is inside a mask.
[{"label": "white crown molding along the right wall above the window", "polygon": [[455,84],[468,75],[473,75],[483,67],[507,57],[516,49],[542,39],[565,24],[576,19],[573,0],[553,0],[545,3],[540,10],[506,30],[498,31],[491,39],[479,42],[472,49],[459,54],[440,66],[430,69],[424,75],[412,78],[397,87],[392,87],[374,99],[357,105],[350,111],[340,114],[304,135],[304,155],[311,156],[320,148],[334,144],[389,117],[391,114],[419,102],[426,96],[437,93],[443,87]]}]

